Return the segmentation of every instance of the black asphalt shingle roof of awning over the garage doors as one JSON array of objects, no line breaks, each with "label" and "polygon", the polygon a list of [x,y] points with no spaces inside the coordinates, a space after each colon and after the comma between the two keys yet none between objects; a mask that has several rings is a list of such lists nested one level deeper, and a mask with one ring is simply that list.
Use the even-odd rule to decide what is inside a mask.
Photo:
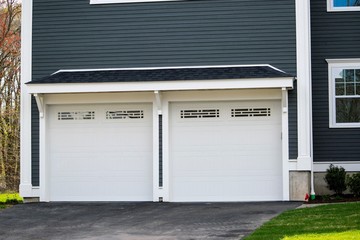
[{"label": "black asphalt shingle roof of awning over the garage doors", "polygon": [[283,78],[292,75],[271,66],[236,67],[189,67],[166,69],[126,69],[126,70],[89,70],[60,71],[53,75],[35,79],[28,84],[43,83],[102,83],[102,82],[148,82],[181,80],[220,80]]}]

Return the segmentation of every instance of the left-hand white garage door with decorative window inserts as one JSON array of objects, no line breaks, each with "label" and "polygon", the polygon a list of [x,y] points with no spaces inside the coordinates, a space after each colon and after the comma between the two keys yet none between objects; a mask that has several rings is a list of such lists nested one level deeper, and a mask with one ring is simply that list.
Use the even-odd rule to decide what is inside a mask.
[{"label": "left-hand white garage door with decorative window inserts", "polygon": [[151,201],[152,105],[49,107],[51,201]]}]

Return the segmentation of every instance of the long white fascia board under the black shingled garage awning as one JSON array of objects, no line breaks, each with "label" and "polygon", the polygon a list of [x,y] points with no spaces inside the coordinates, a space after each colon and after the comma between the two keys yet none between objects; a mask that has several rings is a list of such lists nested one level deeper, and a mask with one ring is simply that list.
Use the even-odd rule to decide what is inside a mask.
[{"label": "long white fascia board under the black shingled garage awning", "polygon": [[28,84],[31,94],[293,88],[293,78]]}]

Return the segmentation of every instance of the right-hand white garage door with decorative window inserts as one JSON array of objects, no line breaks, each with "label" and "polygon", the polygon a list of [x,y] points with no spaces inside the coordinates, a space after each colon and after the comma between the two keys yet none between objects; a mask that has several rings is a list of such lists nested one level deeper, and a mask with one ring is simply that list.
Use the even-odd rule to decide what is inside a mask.
[{"label": "right-hand white garage door with decorative window inserts", "polygon": [[282,199],[280,101],[171,104],[171,201]]}]

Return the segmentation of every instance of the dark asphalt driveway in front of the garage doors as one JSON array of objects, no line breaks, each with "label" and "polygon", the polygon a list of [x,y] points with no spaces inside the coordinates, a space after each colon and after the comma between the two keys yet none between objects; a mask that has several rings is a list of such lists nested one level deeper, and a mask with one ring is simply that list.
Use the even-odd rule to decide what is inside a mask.
[{"label": "dark asphalt driveway in front of the garage doors", "polygon": [[0,210],[0,239],[241,239],[297,202],[29,203]]}]

